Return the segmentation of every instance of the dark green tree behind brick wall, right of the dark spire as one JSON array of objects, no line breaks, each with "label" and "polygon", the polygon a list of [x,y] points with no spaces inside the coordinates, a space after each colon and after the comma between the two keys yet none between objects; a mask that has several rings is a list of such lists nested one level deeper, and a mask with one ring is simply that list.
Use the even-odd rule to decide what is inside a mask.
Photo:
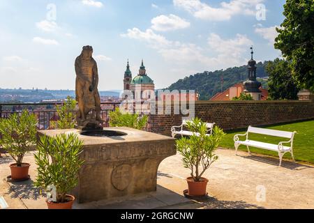
[{"label": "dark green tree behind brick wall, right of the dark spire", "polygon": [[273,100],[297,100],[299,88],[292,78],[290,63],[275,59],[266,66],[269,73],[268,92],[269,98]]}]

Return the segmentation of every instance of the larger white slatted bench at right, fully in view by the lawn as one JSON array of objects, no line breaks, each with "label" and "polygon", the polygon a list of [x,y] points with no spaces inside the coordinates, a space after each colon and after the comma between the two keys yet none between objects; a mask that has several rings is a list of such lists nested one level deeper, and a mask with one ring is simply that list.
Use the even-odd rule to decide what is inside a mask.
[{"label": "larger white slatted bench at right, fully in view by the lawn", "polygon": [[[289,141],[280,141],[278,144],[269,144],[265,143],[262,141],[253,141],[248,139],[248,133],[256,133],[256,134],[266,134],[274,137],[283,137],[290,139]],[[286,131],[280,131],[280,130],[269,130],[266,128],[255,128],[252,127],[251,125],[248,126],[248,131],[246,134],[236,134],[234,135],[234,147],[236,150],[236,155],[237,155],[237,150],[240,145],[244,145],[248,148],[248,146],[253,146],[257,148],[262,148],[262,149],[267,149],[269,151],[275,151],[278,152],[279,155],[279,166],[281,166],[281,161],[283,160],[283,155],[285,153],[291,153],[292,160],[294,162],[294,155],[293,155],[293,150],[292,150],[292,144],[293,144],[293,138],[294,134],[297,132],[286,132]],[[240,136],[246,136],[245,141],[241,141],[239,139]],[[283,146],[283,144],[286,144],[286,146]],[[248,148],[248,153],[250,152],[250,149]]]}]

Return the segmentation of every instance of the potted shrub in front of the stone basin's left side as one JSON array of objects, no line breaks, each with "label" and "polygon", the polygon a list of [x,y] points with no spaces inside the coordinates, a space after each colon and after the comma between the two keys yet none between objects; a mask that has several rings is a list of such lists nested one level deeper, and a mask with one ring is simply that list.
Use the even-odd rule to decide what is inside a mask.
[{"label": "potted shrub in front of the stone basin's left side", "polygon": [[59,134],[40,137],[37,147],[38,176],[34,185],[51,190],[46,200],[48,209],[71,209],[75,197],[67,193],[77,186],[83,142],[75,133]]}]

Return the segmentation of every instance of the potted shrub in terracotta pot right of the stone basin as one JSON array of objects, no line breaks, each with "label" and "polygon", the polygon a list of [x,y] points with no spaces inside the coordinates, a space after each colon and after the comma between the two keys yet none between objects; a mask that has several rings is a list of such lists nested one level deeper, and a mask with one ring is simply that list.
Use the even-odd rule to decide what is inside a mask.
[{"label": "potted shrub in terracotta pot right of the stone basin", "polygon": [[187,128],[195,132],[188,137],[177,139],[177,151],[183,156],[184,167],[190,169],[188,182],[189,196],[206,195],[207,178],[203,178],[204,172],[218,159],[215,150],[225,135],[223,130],[215,126],[212,134],[207,134],[206,123],[199,118],[194,118],[187,123]]}]

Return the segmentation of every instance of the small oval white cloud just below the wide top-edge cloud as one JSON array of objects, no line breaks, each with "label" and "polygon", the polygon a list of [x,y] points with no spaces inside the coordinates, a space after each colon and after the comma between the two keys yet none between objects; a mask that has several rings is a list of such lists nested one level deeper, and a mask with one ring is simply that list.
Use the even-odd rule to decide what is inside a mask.
[{"label": "small oval white cloud just below the wide top-edge cloud", "polygon": [[151,29],[156,31],[170,31],[176,29],[186,29],[190,22],[182,19],[177,15],[159,15],[151,20]]}]

